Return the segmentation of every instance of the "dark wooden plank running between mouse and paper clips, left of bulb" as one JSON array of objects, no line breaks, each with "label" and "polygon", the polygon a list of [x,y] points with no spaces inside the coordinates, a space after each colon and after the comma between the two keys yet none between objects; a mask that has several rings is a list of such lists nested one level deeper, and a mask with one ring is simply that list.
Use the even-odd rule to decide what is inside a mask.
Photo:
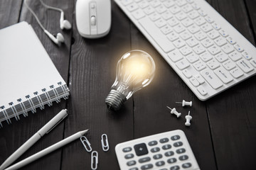
[{"label": "dark wooden plank running between mouse and paper clips, left of bulb", "polygon": [[[119,58],[130,50],[129,20],[112,3],[110,33],[100,39],[86,39],[78,34],[73,22],[70,61],[70,90],[68,101],[70,116],[65,124],[65,137],[78,130],[90,129],[86,135],[92,149],[99,154],[98,169],[119,169],[114,147],[133,138],[133,102],[129,100],[116,113],[107,110],[105,98],[114,83]],[[110,151],[103,152],[101,135],[106,133]],[[75,144],[74,144],[75,143]],[[90,169],[91,155],[80,141],[63,149],[61,169]]]}]

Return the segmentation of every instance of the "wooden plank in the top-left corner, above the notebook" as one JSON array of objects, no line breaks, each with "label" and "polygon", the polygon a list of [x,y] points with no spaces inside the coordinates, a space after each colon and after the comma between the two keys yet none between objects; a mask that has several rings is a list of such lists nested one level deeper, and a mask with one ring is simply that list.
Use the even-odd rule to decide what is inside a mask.
[{"label": "wooden plank in the top-left corner, above the notebook", "polygon": [[0,29],[18,23],[22,1],[2,0],[0,4]]}]

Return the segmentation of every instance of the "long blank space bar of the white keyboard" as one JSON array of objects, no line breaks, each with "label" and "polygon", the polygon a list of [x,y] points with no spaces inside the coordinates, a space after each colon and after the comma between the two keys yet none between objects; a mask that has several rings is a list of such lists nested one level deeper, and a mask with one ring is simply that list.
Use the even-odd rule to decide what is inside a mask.
[{"label": "long blank space bar of the white keyboard", "polygon": [[164,52],[167,53],[171,50],[174,50],[174,46],[171,45],[166,36],[161,33],[161,30],[156,28],[154,23],[151,23],[149,18],[142,18],[139,20],[139,23],[149,33],[149,35],[151,35],[151,37],[156,41],[156,43],[159,44],[159,46]]}]

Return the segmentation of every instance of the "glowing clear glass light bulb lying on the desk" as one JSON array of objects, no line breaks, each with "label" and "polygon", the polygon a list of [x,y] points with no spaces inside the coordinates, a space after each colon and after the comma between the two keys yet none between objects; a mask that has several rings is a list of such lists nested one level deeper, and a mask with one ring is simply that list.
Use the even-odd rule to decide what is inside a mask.
[{"label": "glowing clear glass light bulb lying on the desk", "polygon": [[155,64],[152,57],[142,50],[125,53],[117,62],[117,75],[105,103],[117,111],[124,101],[136,91],[150,84],[154,78]]}]

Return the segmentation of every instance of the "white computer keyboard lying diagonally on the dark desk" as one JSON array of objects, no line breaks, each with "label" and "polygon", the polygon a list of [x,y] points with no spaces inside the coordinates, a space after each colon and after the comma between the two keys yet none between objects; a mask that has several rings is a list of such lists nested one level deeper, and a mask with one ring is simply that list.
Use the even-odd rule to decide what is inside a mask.
[{"label": "white computer keyboard lying diagonally on the dark desk", "polygon": [[255,75],[255,47],[206,1],[114,1],[201,101]]}]

